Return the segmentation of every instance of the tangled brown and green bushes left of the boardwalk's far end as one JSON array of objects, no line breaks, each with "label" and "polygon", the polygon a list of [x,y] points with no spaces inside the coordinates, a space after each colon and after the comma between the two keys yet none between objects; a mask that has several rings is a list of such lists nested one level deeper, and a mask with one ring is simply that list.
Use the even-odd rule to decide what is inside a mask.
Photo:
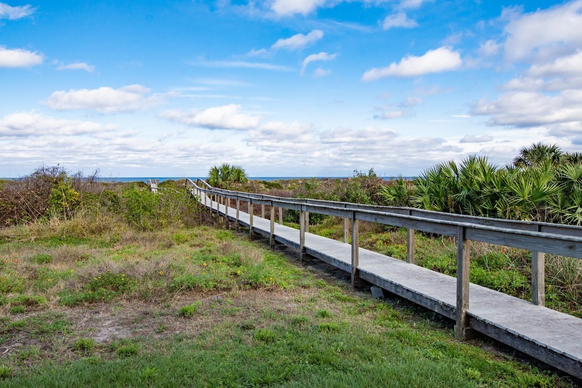
[{"label": "tangled brown and green bushes left of the boardwalk's far end", "polygon": [[153,230],[170,223],[197,222],[197,201],[183,186],[168,181],[158,194],[145,184],[106,183],[71,175],[60,166],[36,170],[29,176],[0,184],[0,226],[42,219],[72,219],[81,214],[93,220],[123,218],[140,230]]}]

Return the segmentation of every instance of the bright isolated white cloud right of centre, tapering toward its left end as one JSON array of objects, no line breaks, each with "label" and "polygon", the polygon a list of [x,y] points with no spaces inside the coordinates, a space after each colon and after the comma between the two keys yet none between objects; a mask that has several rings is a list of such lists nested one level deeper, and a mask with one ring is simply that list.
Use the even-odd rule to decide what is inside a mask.
[{"label": "bright isolated white cloud right of centre, tapering toward its left end", "polygon": [[440,47],[427,51],[423,56],[406,56],[399,63],[392,62],[388,67],[374,67],[365,72],[362,79],[374,81],[383,77],[418,77],[456,70],[461,65],[463,61],[458,51]]}]

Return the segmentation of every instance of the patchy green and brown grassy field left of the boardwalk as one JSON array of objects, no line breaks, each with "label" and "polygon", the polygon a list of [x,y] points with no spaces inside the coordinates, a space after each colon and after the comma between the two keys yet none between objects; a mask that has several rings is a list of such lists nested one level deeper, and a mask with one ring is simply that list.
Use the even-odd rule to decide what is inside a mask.
[{"label": "patchy green and brown grassy field left of the boardwalk", "polygon": [[0,386],[574,386],[232,231],[79,228],[3,230]]}]

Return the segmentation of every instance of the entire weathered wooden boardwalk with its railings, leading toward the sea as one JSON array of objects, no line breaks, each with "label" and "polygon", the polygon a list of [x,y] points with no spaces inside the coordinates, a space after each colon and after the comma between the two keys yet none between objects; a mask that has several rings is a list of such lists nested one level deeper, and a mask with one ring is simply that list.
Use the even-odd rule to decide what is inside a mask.
[{"label": "entire weathered wooden boardwalk with its railings, leading toward the sea", "polygon": [[[544,291],[543,252],[582,258],[580,227],[270,197],[219,190],[201,180],[197,184],[187,180],[186,185],[207,209],[228,222],[248,227],[251,234],[268,236],[272,245],[288,245],[299,251],[300,257],[310,255],[352,273],[353,286],[364,279],[455,320],[457,339],[467,339],[479,332],[582,379],[582,319],[544,307],[539,296]],[[248,212],[241,211],[241,202],[251,205]],[[252,205],[261,206],[261,216],[253,214]],[[265,208],[269,210],[269,219],[265,217]],[[275,222],[276,209],[279,222]],[[300,211],[300,230],[282,225],[281,209]],[[349,220],[354,244],[308,233],[309,212]],[[359,248],[359,220],[456,236],[460,241],[457,273],[461,276],[451,277],[414,265],[410,255],[408,262],[404,262]],[[409,233],[410,236],[414,234]],[[538,261],[533,265],[537,264],[533,271],[538,272],[538,276],[533,276],[533,282],[537,282],[533,284],[534,292],[538,293],[537,300],[534,296],[536,303],[469,283],[470,241],[532,250],[533,261]]]}]

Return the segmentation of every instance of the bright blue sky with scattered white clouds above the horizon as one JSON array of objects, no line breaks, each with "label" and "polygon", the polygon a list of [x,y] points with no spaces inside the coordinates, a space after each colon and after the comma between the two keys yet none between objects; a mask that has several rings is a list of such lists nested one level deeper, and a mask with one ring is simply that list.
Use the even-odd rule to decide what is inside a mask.
[{"label": "bright blue sky with scattered white clouds above the horizon", "polygon": [[0,2],[0,177],[413,176],[582,149],[582,0]]}]

